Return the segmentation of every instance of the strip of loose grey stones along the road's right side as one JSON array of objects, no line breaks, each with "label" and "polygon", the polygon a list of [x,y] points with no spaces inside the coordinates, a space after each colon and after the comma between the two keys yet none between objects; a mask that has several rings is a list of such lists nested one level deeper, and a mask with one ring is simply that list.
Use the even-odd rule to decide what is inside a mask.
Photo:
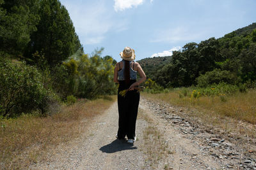
[{"label": "strip of loose grey stones along the road's right side", "polygon": [[198,159],[198,154],[201,154],[210,155],[220,169],[256,169],[255,138],[228,134],[211,125],[205,125],[200,120],[189,117],[193,110],[148,100],[144,102],[157,117],[168,122],[168,126],[183,134],[184,138],[189,139],[200,150],[200,153],[183,153],[189,155],[189,159],[195,164],[199,162],[205,169],[216,169]]}]

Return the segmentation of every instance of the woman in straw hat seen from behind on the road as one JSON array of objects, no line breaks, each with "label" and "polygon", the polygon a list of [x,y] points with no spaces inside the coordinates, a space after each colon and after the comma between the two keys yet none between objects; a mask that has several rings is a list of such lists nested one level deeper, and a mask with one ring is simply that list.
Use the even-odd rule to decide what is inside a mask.
[{"label": "woman in straw hat seen from behind on the road", "polygon": [[[136,141],[135,129],[140,102],[140,92],[136,87],[146,80],[146,75],[138,62],[134,62],[135,52],[130,47],[125,47],[120,52],[122,60],[116,63],[114,70],[114,81],[119,83],[118,87],[118,132],[116,138],[128,138],[128,143]],[[140,80],[136,80],[137,73]],[[125,90],[124,95],[120,92]]]}]

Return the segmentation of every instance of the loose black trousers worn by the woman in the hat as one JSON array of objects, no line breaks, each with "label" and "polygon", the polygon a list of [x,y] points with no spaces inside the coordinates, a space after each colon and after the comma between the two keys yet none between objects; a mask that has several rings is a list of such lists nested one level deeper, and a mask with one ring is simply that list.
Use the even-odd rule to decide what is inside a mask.
[{"label": "loose black trousers worn by the woman in the hat", "polygon": [[124,81],[119,81],[118,88],[118,139],[134,139],[136,129],[136,119],[138,115],[138,106],[140,102],[140,92],[137,90],[128,91],[125,97],[120,96],[119,92],[128,89],[136,80],[131,80],[129,85]]}]

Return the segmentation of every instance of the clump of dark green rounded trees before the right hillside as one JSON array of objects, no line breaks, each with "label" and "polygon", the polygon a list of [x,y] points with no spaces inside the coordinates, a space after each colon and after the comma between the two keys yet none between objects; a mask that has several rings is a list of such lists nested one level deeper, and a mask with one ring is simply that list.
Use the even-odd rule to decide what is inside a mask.
[{"label": "clump of dark green rounded trees before the right hillside", "polygon": [[221,61],[218,52],[218,40],[210,38],[199,44],[188,43],[182,52],[173,52],[170,64],[165,65],[156,73],[156,81],[163,87],[191,86],[201,74],[216,67]]}]

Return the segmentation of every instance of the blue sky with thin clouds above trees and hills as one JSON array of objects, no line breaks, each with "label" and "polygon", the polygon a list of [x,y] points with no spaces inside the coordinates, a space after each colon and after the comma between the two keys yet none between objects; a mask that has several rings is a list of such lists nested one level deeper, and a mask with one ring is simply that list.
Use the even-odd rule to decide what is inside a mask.
[{"label": "blue sky with thin clouds above trees and hills", "polygon": [[121,60],[125,46],[136,60],[172,55],[189,42],[220,38],[256,22],[255,0],[60,0],[85,53]]}]

